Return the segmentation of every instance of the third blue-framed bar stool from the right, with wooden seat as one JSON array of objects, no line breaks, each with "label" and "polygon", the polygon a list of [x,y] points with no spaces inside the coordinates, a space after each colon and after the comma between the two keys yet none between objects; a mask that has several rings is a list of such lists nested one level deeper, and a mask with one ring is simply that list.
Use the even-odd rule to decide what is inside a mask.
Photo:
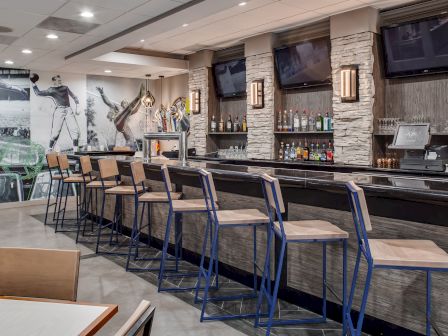
[{"label": "third blue-framed bar stool from the right, with wooden seat", "polygon": [[[219,315],[219,316],[204,316],[207,303],[210,301],[234,301],[257,297],[257,271],[260,269],[257,265],[257,227],[265,226],[269,223],[269,217],[257,209],[241,209],[241,210],[218,210],[216,202],[218,197],[216,194],[215,183],[212,174],[206,170],[200,170],[202,190],[204,199],[209,212],[210,221],[205,232],[205,242],[207,242],[208,230],[212,231],[212,251],[210,255],[209,267],[206,270],[204,267],[204,252],[206,245],[203,247],[201,258],[198,283],[196,287],[196,300],[198,299],[198,291],[201,287],[202,277],[205,279],[205,289],[202,299],[201,322],[205,320],[229,320],[235,318],[251,318],[255,317],[256,313],[235,314],[235,315]],[[222,229],[235,228],[253,228],[253,291],[252,293],[227,295],[209,297],[209,289],[212,279],[212,266],[218,263],[218,244],[219,231]],[[260,271],[263,271],[260,269]]]}]

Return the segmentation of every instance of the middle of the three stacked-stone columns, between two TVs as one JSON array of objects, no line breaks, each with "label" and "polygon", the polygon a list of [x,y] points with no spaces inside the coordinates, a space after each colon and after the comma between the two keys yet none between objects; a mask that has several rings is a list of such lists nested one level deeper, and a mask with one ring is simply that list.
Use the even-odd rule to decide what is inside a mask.
[{"label": "middle of the three stacked-stone columns, between two TVs", "polygon": [[[264,108],[250,106],[250,83],[264,79]],[[272,53],[246,57],[247,155],[250,159],[274,157],[274,58]]]}]

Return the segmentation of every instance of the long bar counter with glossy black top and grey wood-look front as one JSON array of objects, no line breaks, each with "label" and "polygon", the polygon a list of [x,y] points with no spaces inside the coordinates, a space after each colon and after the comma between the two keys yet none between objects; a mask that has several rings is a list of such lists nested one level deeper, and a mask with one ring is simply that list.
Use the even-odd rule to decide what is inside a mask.
[{"label": "long bar counter with glossy black top and grey wood-look front", "polygon": [[[97,170],[97,160],[92,164]],[[72,155],[72,159],[79,156]],[[130,182],[132,157],[114,156],[118,161],[120,174],[125,184]],[[178,161],[153,159],[145,163],[148,186],[155,191],[164,190],[161,183],[161,164],[169,167],[171,181],[176,191],[182,191],[185,198],[202,198],[198,169],[213,173],[221,209],[257,208],[265,211],[259,175],[267,173],[279,179],[286,207],[284,219],[328,220],[350,233],[348,276],[351,279],[356,256],[357,242],[352,215],[345,190],[345,183],[353,180],[364,188],[373,231],[371,238],[431,239],[448,250],[448,179],[445,173],[401,172],[366,169],[363,167],[338,167],[307,164],[285,165],[268,161],[190,160],[182,166]],[[276,167],[277,166],[277,167]],[[129,205],[126,202],[130,202]],[[124,225],[131,227],[133,200],[124,200]],[[113,212],[113,202],[107,202],[108,215]],[[153,236],[156,245],[161,246],[166,225],[167,206],[154,206],[151,213]],[[206,218],[200,215],[186,215],[182,219],[183,254],[186,260],[199,262],[200,245]],[[219,248],[220,273],[250,285],[252,232],[241,229],[222,232]],[[257,234],[259,263],[264,260],[266,232]],[[282,286],[279,296],[299,304],[306,309],[320,311],[321,303],[321,260],[320,246],[294,246],[287,253],[287,262],[282,272]],[[314,244],[312,244],[314,245]],[[228,246],[232,246],[229,249]],[[274,249],[276,247],[274,246]],[[328,247],[328,283],[336,293],[341,293],[342,249]],[[274,253],[272,253],[274,255]],[[274,258],[273,261],[275,262]],[[366,268],[361,267],[361,278]],[[379,271],[381,276],[373,278],[367,304],[365,331],[380,335],[419,335],[424,333],[425,279],[422,272]],[[433,319],[441,331],[448,332],[448,292],[444,274],[433,275]],[[349,281],[350,285],[350,281]],[[360,284],[362,285],[362,284]],[[338,294],[339,295],[339,294]],[[329,294],[328,316],[340,320],[341,307],[338,299]],[[355,309],[361,302],[360,291],[355,296]]]}]

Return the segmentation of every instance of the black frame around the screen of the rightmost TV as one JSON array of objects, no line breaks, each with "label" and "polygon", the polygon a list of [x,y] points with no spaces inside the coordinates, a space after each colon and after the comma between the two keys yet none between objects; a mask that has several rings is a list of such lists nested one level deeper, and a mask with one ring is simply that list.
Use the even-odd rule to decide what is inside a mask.
[{"label": "black frame around the screen of the rightmost TV", "polygon": [[433,74],[441,74],[448,72],[448,65],[445,67],[437,67],[437,68],[426,68],[426,69],[417,69],[417,70],[407,70],[407,71],[396,71],[391,72],[389,71],[389,62],[387,57],[387,51],[386,51],[386,38],[384,32],[391,28],[397,28],[400,26],[404,26],[407,24],[413,24],[417,22],[424,22],[424,21],[430,21],[434,18],[440,18],[440,17],[448,17],[448,14],[439,14],[439,15],[432,15],[421,19],[415,19],[400,23],[394,23],[390,25],[381,26],[381,49],[383,54],[383,69],[384,69],[384,77],[387,79],[394,79],[394,78],[404,78],[404,77],[416,77],[416,76],[425,76],[425,75],[433,75]]}]

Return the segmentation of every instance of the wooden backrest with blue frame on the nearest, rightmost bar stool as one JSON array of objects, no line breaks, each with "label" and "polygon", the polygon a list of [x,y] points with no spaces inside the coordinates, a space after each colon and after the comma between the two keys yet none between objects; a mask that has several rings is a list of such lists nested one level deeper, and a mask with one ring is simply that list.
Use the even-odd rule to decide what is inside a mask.
[{"label": "wooden backrest with blue frame on the nearest, rightmost bar stool", "polygon": [[353,181],[347,182],[345,186],[348,192],[348,201],[350,203],[353,222],[355,223],[358,244],[365,246],[365,252],[370,255],[367,232],[372,231],[372,223],[370,222],[364,190]]}]

